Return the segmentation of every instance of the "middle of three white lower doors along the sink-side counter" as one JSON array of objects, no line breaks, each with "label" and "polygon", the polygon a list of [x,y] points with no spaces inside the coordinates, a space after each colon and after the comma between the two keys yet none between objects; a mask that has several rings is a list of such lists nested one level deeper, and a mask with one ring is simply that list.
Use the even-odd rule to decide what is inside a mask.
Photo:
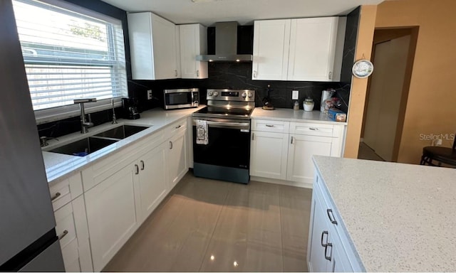
[{"label": "middle of three white lower doors along the sink-side counter", "polygon": [[166,148],[163,143],[138,161],[142,220],[157,208],[167,194]]}]

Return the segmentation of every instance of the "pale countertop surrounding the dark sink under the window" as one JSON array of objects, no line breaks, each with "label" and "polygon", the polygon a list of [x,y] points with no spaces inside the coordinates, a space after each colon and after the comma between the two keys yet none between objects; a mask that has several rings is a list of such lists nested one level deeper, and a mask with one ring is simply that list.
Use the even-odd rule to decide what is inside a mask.
[{"label": "pale countertop surrounding the dark sink under the window", "polygon": [[[205,105],[201,105],[198,108],[174,109],[167,111],[155,108],[142,112],[140,119],[118,119],[118,124],[111,124],[110,122],[107,122],[96,127],[91,127],[89,128],[89,132],[87,134],[75,132],[73,134],[58,137],[58,141],[51,139],[48,141],[49,145],[41,149],[43,151],[44,166],[46,168],[48,183],[52,184],[61,181],[62,179],[73,175],[77,171],[81,171],[81,169],[87,167],[88,164],[93,164],[95,161],[105,158],[114,151],[119,151],[120,149],[130,146],[130,144],[133,144],[135,141],[160,131],[160,129],[163,129],[168,124],[188,117],[190,114],[202,107],[205,107]],[[58,146],[63,146],[78,139],[90,137],[107,129],[118,127],[122,124],[140,125],[149,128],[83,157],[57,154],[49,151],[57,148]]]}]

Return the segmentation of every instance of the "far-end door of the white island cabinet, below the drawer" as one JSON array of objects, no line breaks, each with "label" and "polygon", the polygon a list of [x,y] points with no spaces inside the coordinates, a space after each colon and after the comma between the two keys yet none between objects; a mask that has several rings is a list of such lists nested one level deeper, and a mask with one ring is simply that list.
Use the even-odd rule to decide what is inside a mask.
[{"label": "far-end door of the white island cabinet, below the drawer", "polygon": [[[317,191],[318,189],[314,189]],[[309,249],[307,264],[309,272],[327,272],[329,262],[325,258],[325,252],[330,242],[328,220],[326,220],[326,205],[316,194],[312,194],[311,223],[309,228]]]}]

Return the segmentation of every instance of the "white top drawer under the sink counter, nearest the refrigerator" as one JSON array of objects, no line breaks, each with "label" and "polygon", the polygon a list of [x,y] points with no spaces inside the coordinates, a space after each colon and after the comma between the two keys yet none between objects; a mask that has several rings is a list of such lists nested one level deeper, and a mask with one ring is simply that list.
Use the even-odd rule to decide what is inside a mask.
[{"label": "white top drawer under the sink counter, nearest the refrigerator", "polygon": [[76,173],[69,178],[54,183],[53,186],[49,187],[49,192],[51,193],[53,210],[56,211],[83,193],[81,173]]}]

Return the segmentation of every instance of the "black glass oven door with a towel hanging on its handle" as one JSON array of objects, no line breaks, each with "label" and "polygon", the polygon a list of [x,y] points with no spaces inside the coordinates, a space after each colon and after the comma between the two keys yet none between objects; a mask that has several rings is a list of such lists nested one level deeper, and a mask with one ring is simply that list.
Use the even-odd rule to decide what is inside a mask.
[{"label": "black glass oven door with a towel hanging on its handle", "polygon": [[[207,144],[196,143],[196,121],[207,122]],[[193,117],[193,159],[195,163],[249,169],[250,120]]]}]

